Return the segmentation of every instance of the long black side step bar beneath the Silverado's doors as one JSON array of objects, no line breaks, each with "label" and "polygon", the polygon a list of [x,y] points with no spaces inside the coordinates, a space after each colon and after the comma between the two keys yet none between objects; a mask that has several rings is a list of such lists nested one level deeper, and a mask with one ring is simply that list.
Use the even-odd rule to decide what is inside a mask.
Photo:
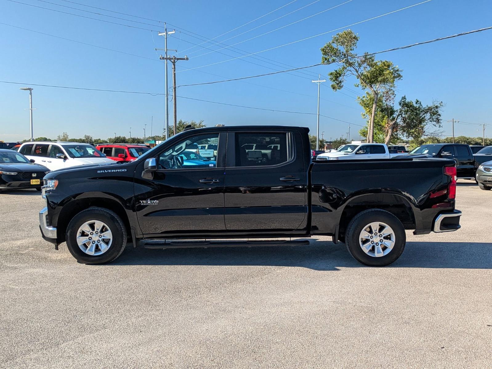
[{"label": "long black side step bar beneath the Silverado's doors", "polygon": [[171,241],[143,242],[146,249],[178,249],[186,247],[251,247],[251,246],[307,246],[309,241]]}]

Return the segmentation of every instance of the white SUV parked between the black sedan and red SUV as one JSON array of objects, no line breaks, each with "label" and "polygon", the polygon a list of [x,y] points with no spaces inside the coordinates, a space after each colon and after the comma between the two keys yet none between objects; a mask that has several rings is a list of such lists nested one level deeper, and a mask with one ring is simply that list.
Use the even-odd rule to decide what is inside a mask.
[{"label": "white SUV parked between the black sedan and red SUV", "polygon": [[113,163],[113,160],[88,143],[77,142],[24,142],[19,152],[36,163],[58,170],[63,168]]}]

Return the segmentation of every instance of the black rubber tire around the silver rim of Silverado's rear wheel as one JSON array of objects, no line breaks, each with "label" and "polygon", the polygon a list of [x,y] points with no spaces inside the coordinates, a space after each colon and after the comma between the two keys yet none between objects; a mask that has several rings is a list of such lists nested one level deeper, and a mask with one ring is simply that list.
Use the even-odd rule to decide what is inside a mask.
[{"label": "black rubber tire around the silver rim of Silverado's rear wheel", "polygon": [[[373,222],[385,223],[393,229],[395,244],[391,250],[385,247],[385,250],[390,250],[386,255],[378,257],[368,255],[359,243],[359,236],[362,230]],[[348,252],[357,261],[369,266],[386,266],[400,257],[401,253],[405,249],[406,234],[405,228],[401,224],[400,220],[393,214],[386,210],[369,209],[357,214],[350,221],[345,232],[345,240],[345,245],[347,246]],[[372,247],[375,247],[375,245]]]}]

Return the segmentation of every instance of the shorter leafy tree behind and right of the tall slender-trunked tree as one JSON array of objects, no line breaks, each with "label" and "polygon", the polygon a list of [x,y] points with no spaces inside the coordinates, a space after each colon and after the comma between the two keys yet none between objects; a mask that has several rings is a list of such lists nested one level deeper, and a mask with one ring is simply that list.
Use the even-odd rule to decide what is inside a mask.
[{"label": "shorter leafy tree behind and right of the tall slender-trunked tree", "polygon": [[[359,104],[364,109],[363,118],[368,121],[368,126],[359,131],[361,135],[367,135],[369,116],[372,112],[373,96],[369,92],[358,97]],[[418,99],[407,100],[403,96],[398,106],[392,104],[392,100],[379,99],[376,113],[374,114],[374,141],[389,143],[401,142],[403,137],[418,140],[428,136],[439,136],[442,131],[441,109],[444,104],[432,102],[424,106]]]}]

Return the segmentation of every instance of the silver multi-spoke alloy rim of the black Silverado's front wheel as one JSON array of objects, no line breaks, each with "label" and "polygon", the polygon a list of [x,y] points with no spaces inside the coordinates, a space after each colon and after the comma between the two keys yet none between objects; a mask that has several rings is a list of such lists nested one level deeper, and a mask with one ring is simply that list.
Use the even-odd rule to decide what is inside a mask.
[{"label": "silver multi-spoke alloy rim of the black Silverado's front wheel", "polygon": [[88,221],[77,231],[77,245],[87,255],[101,255],[113,242],[111,229],[101,221]]}]

